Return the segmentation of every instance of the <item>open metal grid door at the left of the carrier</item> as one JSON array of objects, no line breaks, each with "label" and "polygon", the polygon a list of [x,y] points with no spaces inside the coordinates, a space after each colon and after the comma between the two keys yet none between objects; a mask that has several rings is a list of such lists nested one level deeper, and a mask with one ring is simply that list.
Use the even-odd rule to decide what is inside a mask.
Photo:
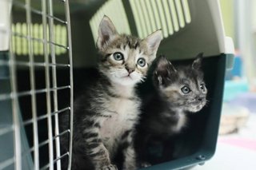
[{"label": "open metal grid door at the left of the carrier", "polygon": [[[64,158],[70,169],[73,66],[69,1],[3,1],[10,6],[10,23],[9,29],[1,31],[10,41],[9,49],[0,51],[0,170],[60,170]],[[16,29],[17,23],[22,23],[22,30]],[[37,30],[35,24],[42,27]],[[58,43],[57,25],[65,28],[66,44]],[[34,53],[37,46],[42,46],[42,53]],[[27,53],[16,53],[25,48]],[[59,128],[63,114],[70,117],[66,129]],[[60,144],[63,136],[70,139],[65,152]]]}]

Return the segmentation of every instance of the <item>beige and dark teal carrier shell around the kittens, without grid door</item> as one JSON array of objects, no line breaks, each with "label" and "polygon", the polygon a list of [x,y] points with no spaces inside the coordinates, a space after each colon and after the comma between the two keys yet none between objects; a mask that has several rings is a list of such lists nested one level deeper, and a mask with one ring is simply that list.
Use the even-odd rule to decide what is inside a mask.
[{"label": "beige and dark teal carrier shell around the kittens, without grid door", "polygon": [[[178,158],[146,169],[187,168],[210,160],[218,137],[224,77],[226,69],[232,67],[234,53],[232,39],[223,30],[218,0],[99,0],[73,5],[76,7],[71,18],[77,89],[82,89],[82,80],[97,63],[97,51],[92,47],[104,14],[111,18],[119,33],[145,38],[161,28],[163,40],[158,54],[165,54],[174,64],[190,63],[198,53],[204,53],[202,69],[209,103],[199,113],[189,116],[186,130],[172,141],[182,148]],[[150,93],[150,88],[143,85],[142,95]]]}]

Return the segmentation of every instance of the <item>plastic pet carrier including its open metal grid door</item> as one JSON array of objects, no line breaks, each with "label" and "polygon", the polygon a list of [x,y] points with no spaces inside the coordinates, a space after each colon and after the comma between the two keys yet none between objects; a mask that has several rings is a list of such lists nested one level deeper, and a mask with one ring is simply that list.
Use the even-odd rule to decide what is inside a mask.
[{"label": "plastic pet carrier including its open metal grid door", "polygon": [[[59,141],[72,139],[73,98],[94,79],[104,14],[119,33],[145,38],[162,29],[158,54],[174,63],[204,53],[209,103],[174,139],[182,144],[180,156],[146,169],[189,168],[214,155],[224,77],[234,53],[218,0],[1,0],[0,11],[0,169],[62,169],[63,159],[70,165],[72,140],[65,153]],[[70,115],[63,132],[59,114]]]}]

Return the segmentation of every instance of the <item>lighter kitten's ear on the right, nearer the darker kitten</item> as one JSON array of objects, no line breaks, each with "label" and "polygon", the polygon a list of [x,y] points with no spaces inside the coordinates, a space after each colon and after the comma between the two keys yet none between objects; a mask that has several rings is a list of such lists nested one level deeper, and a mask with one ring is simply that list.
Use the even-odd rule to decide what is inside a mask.
[{"label": "lighter kitten's ear on the right, nearer the darker kitten", "polygon": [[[150,49],[150,53],[152,53],[152,57],[156,57],[156,53],[158,51],[158,47],[160,45],[160,42],[162,40],[162,30],[157,30],[153,34],[150,34],[143,40],[143,42],[146,43],[148,49]],[[151,61],[154,60],[154,58],[150,58]]]}]

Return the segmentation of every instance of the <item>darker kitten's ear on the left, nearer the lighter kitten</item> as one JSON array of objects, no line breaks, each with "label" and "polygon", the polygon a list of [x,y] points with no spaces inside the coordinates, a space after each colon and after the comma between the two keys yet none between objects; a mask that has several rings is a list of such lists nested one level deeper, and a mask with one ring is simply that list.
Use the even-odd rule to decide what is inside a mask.
[{"label": "darker kitten's ear on the left, nearer the lighter kitten", "polygon": [[154,81],[157,81],[157,85],[166,85],[173,73],[176,72],[174,65],[166,57],[160,56],[154,71]]}]

